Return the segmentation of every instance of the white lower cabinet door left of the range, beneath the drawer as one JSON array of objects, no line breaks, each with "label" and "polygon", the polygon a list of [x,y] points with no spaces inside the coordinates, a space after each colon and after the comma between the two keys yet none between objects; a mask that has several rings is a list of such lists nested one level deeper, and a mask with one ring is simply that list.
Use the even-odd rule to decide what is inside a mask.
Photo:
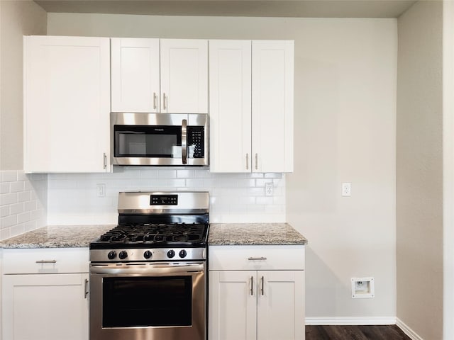
[{"label": "white lower cabinet door left of the range, beneath the drawer", "polygon": [[88,273],[4,275],[3,339],[88,339],[88,277]]}]

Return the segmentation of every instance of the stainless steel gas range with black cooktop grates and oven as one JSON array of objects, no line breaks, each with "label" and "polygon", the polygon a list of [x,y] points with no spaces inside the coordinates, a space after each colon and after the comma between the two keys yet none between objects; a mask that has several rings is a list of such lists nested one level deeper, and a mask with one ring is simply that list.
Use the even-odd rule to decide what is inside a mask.
[{"label": "stainless steel gas range with black cooktop grates and oven", "polygon": [[118,195],[90,244],[90,340],[206,340],[209,193]]}]

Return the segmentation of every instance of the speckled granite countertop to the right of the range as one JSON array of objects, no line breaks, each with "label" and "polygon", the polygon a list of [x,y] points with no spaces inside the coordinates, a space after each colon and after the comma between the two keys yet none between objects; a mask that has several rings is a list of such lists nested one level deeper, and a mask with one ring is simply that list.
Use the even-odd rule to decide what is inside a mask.
[{"label": "speckled granite countertop to the right of the range", "polygon": [[211,223],[210,246],[307,244],[307,239],[288,223]]}]

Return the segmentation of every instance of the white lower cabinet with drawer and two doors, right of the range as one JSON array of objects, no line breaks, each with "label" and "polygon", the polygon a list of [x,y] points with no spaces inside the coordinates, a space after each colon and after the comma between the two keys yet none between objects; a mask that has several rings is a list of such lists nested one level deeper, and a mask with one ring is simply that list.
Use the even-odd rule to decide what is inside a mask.
[{"label": "white lower cabinet with drawer and two doors, right of the range", "polygon": [[[279,246],[209,249],[210,340],[304,339],[304,246],[296,247],[289,251],[289,256],[300,256],[289,261],[294,270],[285,268],[289,262],[282,262],[285,270],[276,266],[286,261]],[[240,254],[229,256],[230,251],[221,248]],[[235,266],[238,270],[231,270]],[[244,270],[247,266],[272,270]]]}]

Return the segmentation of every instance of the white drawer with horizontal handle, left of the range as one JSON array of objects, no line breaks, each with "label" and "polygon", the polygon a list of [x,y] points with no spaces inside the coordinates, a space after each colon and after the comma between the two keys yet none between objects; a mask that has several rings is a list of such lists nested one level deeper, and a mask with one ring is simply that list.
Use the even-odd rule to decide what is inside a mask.
[{"label": "white drawer with horizontal handle, left of the range", "polygon": [[4,274],[88,273],[88,248],[3,249]]}]

